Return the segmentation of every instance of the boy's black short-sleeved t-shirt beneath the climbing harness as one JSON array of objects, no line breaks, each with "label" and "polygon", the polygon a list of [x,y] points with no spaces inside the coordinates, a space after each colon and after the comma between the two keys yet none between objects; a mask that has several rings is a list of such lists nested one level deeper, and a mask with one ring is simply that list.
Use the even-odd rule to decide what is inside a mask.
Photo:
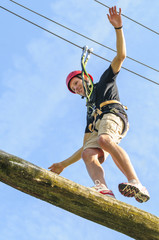
[{"label": "boy's black short-sleeved t-shirt beneath the climbing harness", "polygon": [[[98,83],[94,84],[93,89],[93,100],[96,108],[100,107],[102,102],[108,100],[117,100],[120,101],[118,88],[116,85],[116,77],[117,74],[113,73],[111,65],[109,68],[103,73]],[[105,113],[108,113],[112,108],[118,109],[121,113],[125,113],[122,106],[119,104],[110,104],[110,106],[105,108]],[[90,109],[89,109],[90,110]],[[126,114],[126,113],[125,113]],[[90,132],[88,126],[93,122],[93,117],[91,117],[91,112],[87,111],[87,126],[85,132]]]}]

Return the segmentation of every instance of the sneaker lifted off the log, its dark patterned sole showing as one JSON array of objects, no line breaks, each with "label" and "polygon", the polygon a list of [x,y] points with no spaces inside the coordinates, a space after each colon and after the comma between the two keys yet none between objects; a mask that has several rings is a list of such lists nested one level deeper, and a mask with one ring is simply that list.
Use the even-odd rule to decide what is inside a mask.
[{"label": "sneaker lifted off the log, its dark patterned sole showing", "polygon": [[121,183],[119,192],[125,197],[135,197],[136,201],[143,203],[150,199],[150,195],[145,187],[139,183]]}]

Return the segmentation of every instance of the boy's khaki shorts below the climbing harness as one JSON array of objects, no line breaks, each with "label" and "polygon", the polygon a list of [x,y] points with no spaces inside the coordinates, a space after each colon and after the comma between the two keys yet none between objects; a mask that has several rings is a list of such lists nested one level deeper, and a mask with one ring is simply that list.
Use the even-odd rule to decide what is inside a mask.
[{"label": "boy's khaki shorts below the climbing harness", "polygon": [[[98,137],[102,134],[107,134],[114,140],[115,143],[120,143],[121,139],[126,136],[129,126],[124,134],[122,134],[123,128],[124,122],[120,117],[112,113],[104,114],[102,119],[98,119],[96,122],[95,129],[98,131],[93,131],[90,134],[90,137],[85,142],[83,149],[100,148],[100,145],[98,144]],[[105,157],[108,155],[109,154],[105,152]]]}]

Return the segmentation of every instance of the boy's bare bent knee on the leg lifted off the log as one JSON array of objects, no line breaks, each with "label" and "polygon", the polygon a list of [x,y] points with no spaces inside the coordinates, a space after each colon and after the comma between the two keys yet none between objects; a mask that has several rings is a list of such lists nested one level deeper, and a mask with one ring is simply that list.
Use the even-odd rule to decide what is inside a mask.
[{"label": "boy's bare bent knee on the leg lifted off the log", "polygon": [[102,149],[109,152],[110,148],[113,146],[114,142],[109,135],[103,134],[98,138],[98,144]]}]

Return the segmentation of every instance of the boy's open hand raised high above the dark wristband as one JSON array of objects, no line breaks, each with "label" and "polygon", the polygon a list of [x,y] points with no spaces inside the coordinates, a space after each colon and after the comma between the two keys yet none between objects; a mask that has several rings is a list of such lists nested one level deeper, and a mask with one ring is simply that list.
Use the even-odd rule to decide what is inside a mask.
[{"label": "boy's open hand raised high above the dark wristband", "polygon": [[122,26],[121,19],[121,8],[119,8],[119,13],[116,10],[116,6],[109,8],[109,14],[107,14],[110,23],[115,27],[119,28]]}]

